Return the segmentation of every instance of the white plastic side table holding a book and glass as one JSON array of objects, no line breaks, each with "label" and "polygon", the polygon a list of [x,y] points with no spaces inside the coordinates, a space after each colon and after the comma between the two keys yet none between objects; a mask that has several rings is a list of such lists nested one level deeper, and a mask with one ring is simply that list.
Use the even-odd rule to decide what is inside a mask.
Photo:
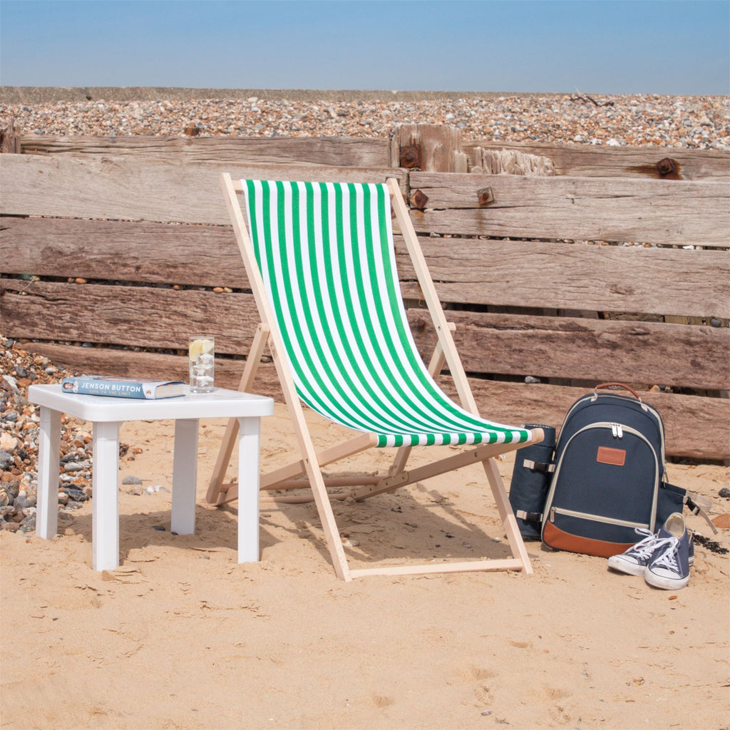
[{"label": "white plastic side table holding a book and glass", "polygon": [[217,388],[177,398],[145,400],[64,393],[61,385],[31,385],[28,400],[40,406],[36,534],[58,531],[58,460],[61,413],[93,423],[92,555],[94,570],[119,566],[119,426],[126,420],[174,419],[171,529],[195,531],[198,422],[237,418],[239,422],[238,561],[258,561],[258,462],[261,417],[274,401],[252,393]]}]

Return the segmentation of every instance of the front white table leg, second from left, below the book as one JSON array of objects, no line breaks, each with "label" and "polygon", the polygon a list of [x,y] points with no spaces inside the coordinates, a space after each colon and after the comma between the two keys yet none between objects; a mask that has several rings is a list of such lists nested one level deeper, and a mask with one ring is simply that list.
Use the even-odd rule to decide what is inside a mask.
[{"label": "front white table leg, second from left, below the book", "polygon": [[94,570],[119,567],[119,423],[93,424]]}]

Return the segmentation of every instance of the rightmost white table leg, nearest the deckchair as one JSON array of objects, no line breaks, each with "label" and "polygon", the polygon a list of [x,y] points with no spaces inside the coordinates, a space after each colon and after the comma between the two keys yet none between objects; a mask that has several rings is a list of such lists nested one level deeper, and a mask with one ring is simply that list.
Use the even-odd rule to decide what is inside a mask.
[{"label": "rightmost white table leg, nearest the deckchair", "polygon": [[239,418],[238,561],[258,562],[259,418]]}]

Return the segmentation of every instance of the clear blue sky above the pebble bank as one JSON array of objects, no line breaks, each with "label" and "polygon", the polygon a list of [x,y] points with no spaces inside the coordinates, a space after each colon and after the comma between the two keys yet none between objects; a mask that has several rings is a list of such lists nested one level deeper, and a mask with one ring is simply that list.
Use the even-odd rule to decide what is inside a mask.
[{"label": "clear blue sky above the pebble bank", "polygon": [[0,83],[730,93],[730,0],[0,0]]}]

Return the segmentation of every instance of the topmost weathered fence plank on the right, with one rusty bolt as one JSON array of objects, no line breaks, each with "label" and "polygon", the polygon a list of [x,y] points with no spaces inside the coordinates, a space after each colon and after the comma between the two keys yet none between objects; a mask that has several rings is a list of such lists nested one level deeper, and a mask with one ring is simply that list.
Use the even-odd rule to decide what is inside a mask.
[{"label": "topmost weathered fence plank on the right, with one rusty bolt", "polygon": [[[716,183],[730,181],[730,153],[723,150],[494,142],[493,139],[470,139],[462,145],[464,152],[470,156],[475,154],[477,147],[485,150],[515,150],[548,157],[553,161],[555,174],[568,177],[649,177],[656,180],[712,180]],[[673,172],[672,166],[666,163],[659,165],[666,159],[673,162]]]}]

